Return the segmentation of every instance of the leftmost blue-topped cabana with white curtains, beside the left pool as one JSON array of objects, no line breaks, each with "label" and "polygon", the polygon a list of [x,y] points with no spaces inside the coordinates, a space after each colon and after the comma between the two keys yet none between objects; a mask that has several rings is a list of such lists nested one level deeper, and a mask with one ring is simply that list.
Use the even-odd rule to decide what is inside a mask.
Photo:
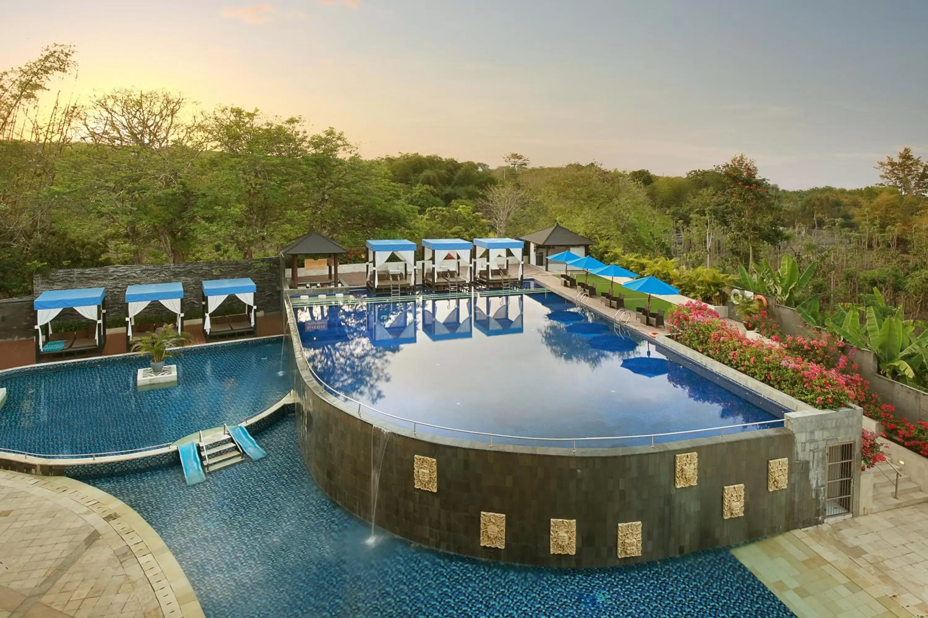
[{"label": "leftmost blue-topped cabana with white curtains, beside the left pool", "polygon": [[[106,315],[107,292],[102,287],[75,290],[50,290],[32,301],[35,309],[35,359],[101,353],[107,343]],[[61,309],[74,309],[93,325],[80,333],[52,334],[51,321]],[[42,327],[45,326],[45,334]],[[78,336],[82,335],[82,336]]]}]

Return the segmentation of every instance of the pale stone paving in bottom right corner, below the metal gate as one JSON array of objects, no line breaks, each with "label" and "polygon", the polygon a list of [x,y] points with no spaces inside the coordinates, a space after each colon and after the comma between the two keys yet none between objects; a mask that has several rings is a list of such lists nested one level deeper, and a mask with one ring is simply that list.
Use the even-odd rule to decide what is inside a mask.
[{"label": "pale stone paving in bottom right corner, below the metal gate", "polygon": [[800,618],[928,618],[928,503],[793,530],[732,553]]}]

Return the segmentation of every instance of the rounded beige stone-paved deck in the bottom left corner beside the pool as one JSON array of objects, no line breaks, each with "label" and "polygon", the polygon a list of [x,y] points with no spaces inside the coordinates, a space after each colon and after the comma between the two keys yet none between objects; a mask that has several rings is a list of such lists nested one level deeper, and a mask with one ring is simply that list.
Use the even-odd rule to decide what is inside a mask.
[{"label": "rounded beige stone-paved deck in the bottom left corner beside the pool", "polygon": [[0,618],[199,618],[187,576],[129,506],[61,476],[0,470]]}]

